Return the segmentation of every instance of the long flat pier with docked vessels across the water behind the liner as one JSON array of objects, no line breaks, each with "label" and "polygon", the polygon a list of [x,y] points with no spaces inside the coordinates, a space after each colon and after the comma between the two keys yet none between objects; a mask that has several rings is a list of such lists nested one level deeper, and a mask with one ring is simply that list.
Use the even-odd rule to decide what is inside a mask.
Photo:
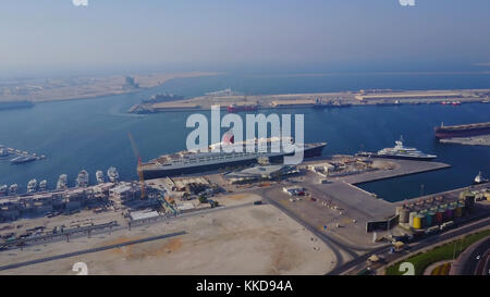
[{"label": "long flat pier with docked vessels across the water behind the liner", "polygon": [[[231,89],[229,89],[231,94]],[[211,106],[252,106],[255,109],[280,108],[347,108],[353,106],[402,106],[402,104],[448,104],[485,102],[490,103],[490,89],[451,89],[451,90],[392,90],[367,89],[359,91],[277,94],[277,95],[221,95],[208,92],[185,100],[166,102],[142,101],[133,106],[130,113],[155,113],[164,111],[210,110]]]}]

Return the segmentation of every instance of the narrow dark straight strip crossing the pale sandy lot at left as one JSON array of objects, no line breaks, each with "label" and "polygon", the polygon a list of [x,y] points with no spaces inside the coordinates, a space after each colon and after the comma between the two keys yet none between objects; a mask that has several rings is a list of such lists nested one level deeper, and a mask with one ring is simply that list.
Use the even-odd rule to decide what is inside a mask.
[{"label": "narrow dark straight strip crossing the pale sandy lot at left", "polygon": [[142,238],[142,239],[126,242],[126,243],[121,243],[121,244],[115,244],[115,245],[109,245],[109,246],[102,246],[102,247],[97,247],[97,248],[89,248],[89,249],[84,249],[84,250],[62,253],[62,255],[56,255],[56,256],[40,258],[40,259],[36,259],[36,260],[30,260],[30,261],[25,261],[25,262],[3,265],[3,267],[0,267],[0,271],[9,270],[9,269],[15,269],[15,268],[20,268],[20,267],[34,265],[34,264],[37,264],[37,263],[54,261],[54,260],[59,260],[59,259],[63,259],[63,258],[71,258],[71,257],[85,255],[85,253],[98,252],[98,251],[101,251],[101,250],[108,250],[108,249],[112,249],[112,248],[120,248],[120,247],[123,247],[123,246],[130,246],[130,245],[136,245],[136,244],[142,244],[142,243],[154,242],[154,240],[169,238],[169,237],[184,235],[184,234],[186,234],[185,231],[180,231],[180,232],[174,232],[174,233],[169,233],[169,234],[163,234],[163,235],[157,235],[157,236],[152,236],[152,237]]}]

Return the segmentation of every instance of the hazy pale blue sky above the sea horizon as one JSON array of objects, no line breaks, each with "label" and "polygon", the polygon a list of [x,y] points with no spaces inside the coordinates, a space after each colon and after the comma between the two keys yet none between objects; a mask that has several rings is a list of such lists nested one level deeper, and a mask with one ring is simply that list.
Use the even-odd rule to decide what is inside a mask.
[{"label": "hazy pale blue sky above the sea horizon", "polygon": [[2,0],[0,73],[490,70],[488,0],[87,1]]}]

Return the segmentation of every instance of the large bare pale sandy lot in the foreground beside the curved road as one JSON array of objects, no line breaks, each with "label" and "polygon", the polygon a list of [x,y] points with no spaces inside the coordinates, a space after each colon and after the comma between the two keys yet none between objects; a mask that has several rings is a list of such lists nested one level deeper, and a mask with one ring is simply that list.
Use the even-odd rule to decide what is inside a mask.
[{"label": "large bare pale sandy lot in the foreground beside the curved road", "polygon": [[1,274],[76,274],[85,262],[89,274],[323,274],[333,253],[311,233],[272,206],[253,206],[254,195],[234,195],[243,207],[193,214],[71,243],[33,246],[0,252],[9,264],[89,247],[106,246],[159,234],[187,234],[150,243],[0,271]]}]

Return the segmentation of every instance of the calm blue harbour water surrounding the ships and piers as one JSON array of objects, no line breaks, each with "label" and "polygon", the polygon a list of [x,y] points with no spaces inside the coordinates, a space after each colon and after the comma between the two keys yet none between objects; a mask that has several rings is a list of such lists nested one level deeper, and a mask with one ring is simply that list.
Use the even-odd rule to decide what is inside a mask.
[{"label": "calm blue harbour water surrounding the ships and piers", "polygon": [[[0,112],[0,144],[44,153],[47,160],[22,165],[0,161],[0,184],[17,183],[25,191],[28,180],[48,180],[54,187],[58,176],[69,175],[70,184],[79,170],[90,173],[115,165],[123,180],[136,178],[127,133],[135,138],[144,160],[185,149],[189,113],[168,112],[144,116],[125,113],[133,103],[162,90],[184,96],[225,87],[247,94],[336,91],[358,88],[483,88],[489,75],[384,76],[341,75],[324,77],[237,77],[216,76],[174,79],[138,94],[37,104],[33,109]],[[490,121],[490,104],[461,107],[440,104],[416,107],[359,107],[332,110],[281,110],[305,114],[306,141],[327,141],[324,154],[355,153],[393,146],[403,135],[406,145],[436,153],[453,166],[432,173],[369,183],[363,188],[387,200],[400,200],[469,185],[478,171],[490,175],[490,148],[440,145],[433,127],[445,124]],[[424,186],[421,186],[424,185]]]}]

